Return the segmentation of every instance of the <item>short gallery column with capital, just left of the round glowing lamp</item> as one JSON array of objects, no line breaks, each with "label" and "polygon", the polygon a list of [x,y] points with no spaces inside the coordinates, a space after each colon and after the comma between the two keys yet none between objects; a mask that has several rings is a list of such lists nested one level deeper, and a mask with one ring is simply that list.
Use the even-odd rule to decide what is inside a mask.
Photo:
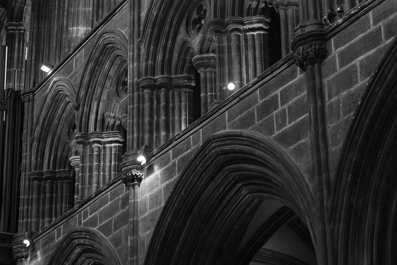
[{"label": "short gallery column with capital, just left of the round glowing lamp", "polygon": [[215,79],[215,61],[216,55],[201,54],[193,57],[193,63],[200,74],[201,87],[201,116],[211,110],[214,102],[214,88],[216,88]]}]

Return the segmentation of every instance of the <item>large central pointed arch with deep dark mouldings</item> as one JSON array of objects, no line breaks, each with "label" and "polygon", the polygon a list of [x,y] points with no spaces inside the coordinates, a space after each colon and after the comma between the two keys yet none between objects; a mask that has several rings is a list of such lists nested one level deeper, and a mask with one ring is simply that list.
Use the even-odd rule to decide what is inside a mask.
[{"label": "large central pointed arch with deep dark mouldings", "polygon": [[[245,132],[212,135],[171,190],[144,264],[239,264],[252,259],[239,252],[239,244],[264,199],[287,205],[314,234],[313,196],[287,155]],[[264,237],[271,234],[262,232]],[[263,246],[259,239],[253,242],[255,250],[245,249],[251,255]]]}]

